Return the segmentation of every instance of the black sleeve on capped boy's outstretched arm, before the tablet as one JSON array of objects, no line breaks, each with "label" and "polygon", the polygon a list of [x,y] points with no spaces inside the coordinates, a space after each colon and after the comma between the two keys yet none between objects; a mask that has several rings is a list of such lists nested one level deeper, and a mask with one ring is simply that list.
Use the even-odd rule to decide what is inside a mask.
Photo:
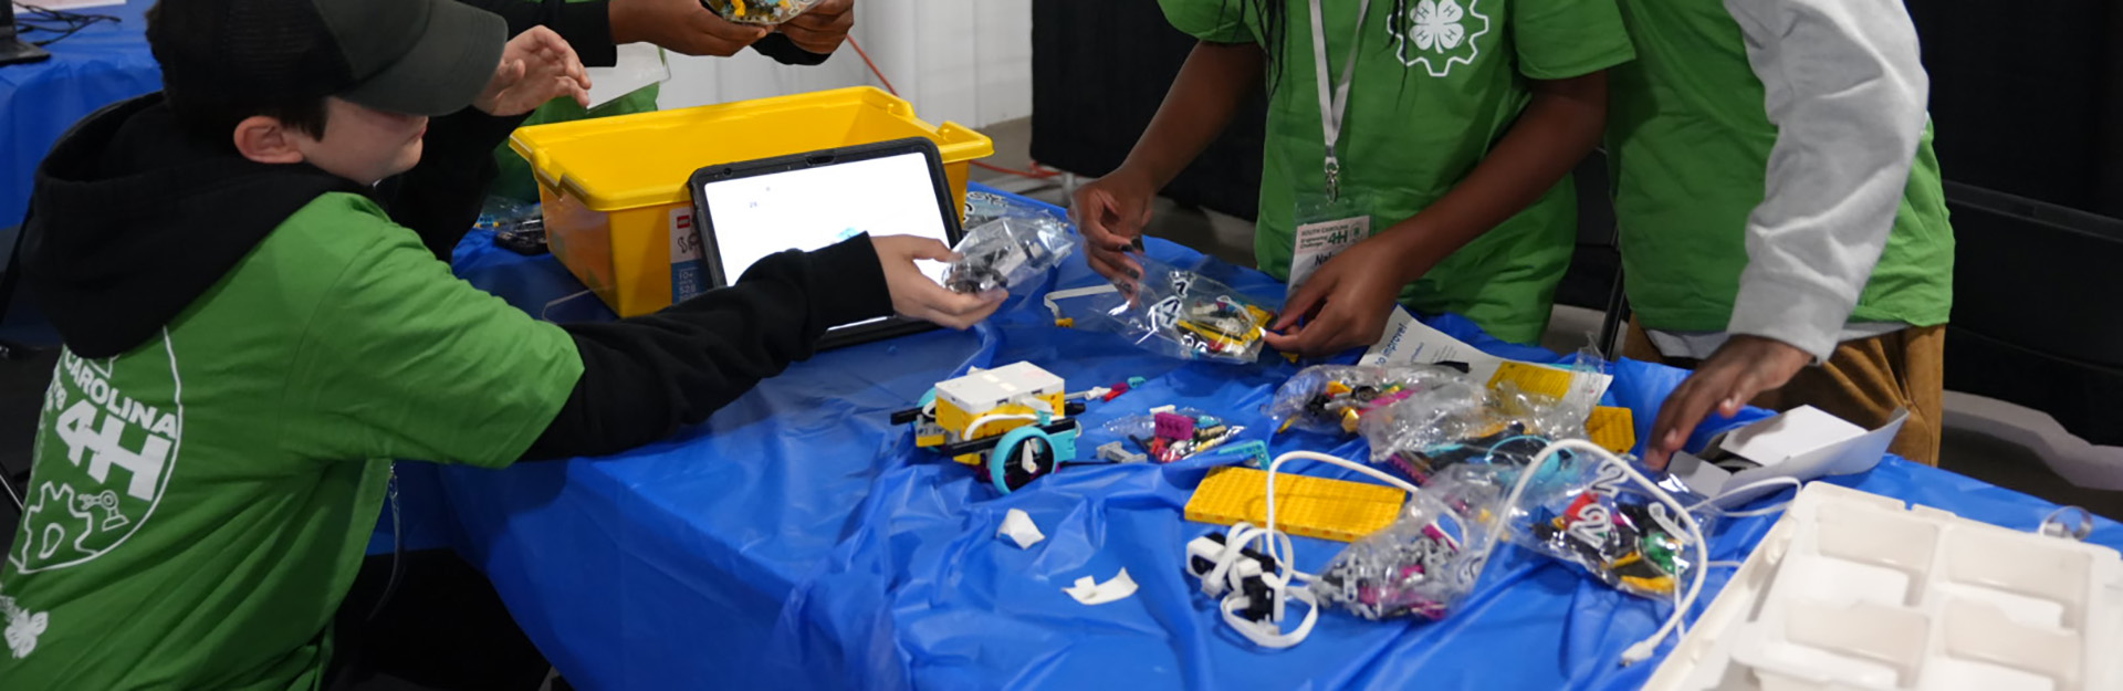
[{"label": "black sleeve on capped boy's outstretched arm, before the tablet", "polygon": [[828,326],[892,314],[870,235],[781,252],[735,286],[605,324],[565,324],[582,379],[524,460],[605,456],[671,437],[805,360]]}]

